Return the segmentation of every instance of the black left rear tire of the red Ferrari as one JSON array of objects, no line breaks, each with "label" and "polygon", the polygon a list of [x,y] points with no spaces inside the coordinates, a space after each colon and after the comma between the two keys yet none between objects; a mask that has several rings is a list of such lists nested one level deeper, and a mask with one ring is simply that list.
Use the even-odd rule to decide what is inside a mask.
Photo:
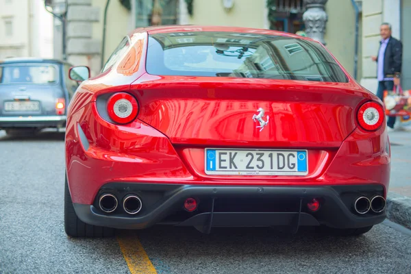
[{"label": "black left rear tire of the red Ferrari", "polygon": [[73,201],[69,191],[69,184],[64,186],[64,229],[66,234],[71,237],[102,238],[114,236],[114,229],[111,227],[99,227],[84,223],[77,217],[73,207]]}]

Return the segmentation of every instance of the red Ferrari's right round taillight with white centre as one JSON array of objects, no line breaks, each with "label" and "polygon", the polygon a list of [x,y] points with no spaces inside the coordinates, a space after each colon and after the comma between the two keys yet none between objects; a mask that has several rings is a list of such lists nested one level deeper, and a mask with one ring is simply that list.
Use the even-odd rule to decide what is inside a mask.
[{"label": "red Ferrari's right round taillight with white centre", "polygon": [[384,110],[379,103],[364,103],[358,110],[358,123],[363,129],[373,131],[381,127],[384,121]]}]

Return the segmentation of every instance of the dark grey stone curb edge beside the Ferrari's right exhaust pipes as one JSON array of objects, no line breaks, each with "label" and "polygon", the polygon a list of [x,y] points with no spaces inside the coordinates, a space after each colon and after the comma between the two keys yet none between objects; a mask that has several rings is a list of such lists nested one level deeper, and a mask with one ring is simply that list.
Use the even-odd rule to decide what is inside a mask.
[{"label": "dark grey stone curb edge beside the Ferrari's right exhaust pipes", "polygon": [[411,198],[388,192],[386,214],[390,221],[411,229]]}]

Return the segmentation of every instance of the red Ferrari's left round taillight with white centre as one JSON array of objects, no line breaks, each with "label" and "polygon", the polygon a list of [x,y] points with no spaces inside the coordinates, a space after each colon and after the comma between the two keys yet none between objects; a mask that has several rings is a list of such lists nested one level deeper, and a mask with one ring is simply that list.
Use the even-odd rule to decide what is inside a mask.
[{"label": "red Ferrari's left round taillight with white centre", "polygon": [[137,100],[128,93],[119,92],[107,101],[108,116],[119,124],[127,124],[136,119],[138,112]]}]

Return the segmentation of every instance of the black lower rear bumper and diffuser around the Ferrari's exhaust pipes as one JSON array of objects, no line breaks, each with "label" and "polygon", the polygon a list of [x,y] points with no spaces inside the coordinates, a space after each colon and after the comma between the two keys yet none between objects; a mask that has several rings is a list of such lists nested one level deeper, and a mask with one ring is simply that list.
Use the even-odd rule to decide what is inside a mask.
[{"label": "black lower rear bumper and diffuser around the Ferrari's exhaust pipes", "polygon": [[[118,208],[105,213],[99,197],[110,192],[118,199]],[[142,210],[129,215],[123,210],[123,198],[134,193],[142,201]],[[195,186],[169,184],[110,183],[103,186],[92,205],[73,203],[79,219],[91,225],[118,229],[143,229],[157,223],[194,226],[207,232],[211,227],[266,227],[277,225],[358,228],[382,223],[380,213],[356,214],[353,201],[360,195],[382,195],[382,185],[354,186]],[[199,201],[195,212],[186,212],[184,201]],[[321,201],[316,212],[307,208],[313,198]]]}]

